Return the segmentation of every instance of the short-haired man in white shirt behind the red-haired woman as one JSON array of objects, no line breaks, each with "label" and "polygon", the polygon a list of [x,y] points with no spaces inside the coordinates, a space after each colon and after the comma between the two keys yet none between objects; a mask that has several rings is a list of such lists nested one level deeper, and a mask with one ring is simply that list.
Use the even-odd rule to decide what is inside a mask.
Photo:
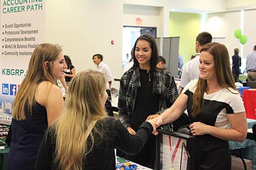
[{"label": "short-haired man in white shirt behind the red-haired woman", "polygon": [[212,42],[212,35],[208,32],[201,32],[196,36],[195,40],[195,58],[187,62],[182,71],[181,80],[180,80],[180,91],[187,85],[191,80],[198,79],[200,75],[199,66],[199,58],[200,58],[200,50],[203,45]]}]

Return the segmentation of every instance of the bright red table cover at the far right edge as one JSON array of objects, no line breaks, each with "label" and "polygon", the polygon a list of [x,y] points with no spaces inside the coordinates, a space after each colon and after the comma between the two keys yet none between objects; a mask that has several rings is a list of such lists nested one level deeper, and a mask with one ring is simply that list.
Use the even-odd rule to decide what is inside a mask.
[{"label": "bright red table cover at the far right edge", "polygon": [[243,90],[242,100],[246,109],[246,117],[256,120],[256,89]]}]

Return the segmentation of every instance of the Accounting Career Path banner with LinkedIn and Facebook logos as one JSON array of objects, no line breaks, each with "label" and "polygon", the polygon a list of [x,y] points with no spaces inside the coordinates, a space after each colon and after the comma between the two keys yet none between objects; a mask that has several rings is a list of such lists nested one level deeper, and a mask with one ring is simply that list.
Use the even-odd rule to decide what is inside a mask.
[{"label": "Accounting Career Path banner with LinkedIn and Facebook logos", "polygon": [[0,4],[0,113],[11,114],[32,52],[45,41],[45,0],[1,0]]}]

